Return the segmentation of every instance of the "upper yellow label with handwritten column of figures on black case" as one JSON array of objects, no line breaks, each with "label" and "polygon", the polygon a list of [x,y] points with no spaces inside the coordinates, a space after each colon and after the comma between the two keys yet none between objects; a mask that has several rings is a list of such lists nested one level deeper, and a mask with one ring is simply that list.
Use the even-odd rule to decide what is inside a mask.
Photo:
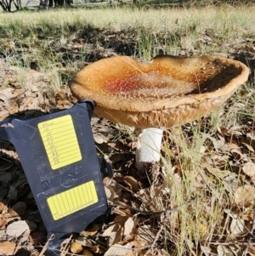
[{"label": "upper yellow label with handwritten column of figures on black case", "polygon": [[38,128],[53,170],[82,160],[70,115],[40,122]]}]

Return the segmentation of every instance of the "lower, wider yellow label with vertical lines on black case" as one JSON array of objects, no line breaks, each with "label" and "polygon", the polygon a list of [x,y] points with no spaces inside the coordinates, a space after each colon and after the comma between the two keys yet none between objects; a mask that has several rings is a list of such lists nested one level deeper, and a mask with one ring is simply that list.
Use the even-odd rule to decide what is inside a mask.
[{"label": "lower, wider yellow label with vertical lines on black case", "polygon": [[54,220],[76,213],[98,201],[93,180],[47,199]]}]

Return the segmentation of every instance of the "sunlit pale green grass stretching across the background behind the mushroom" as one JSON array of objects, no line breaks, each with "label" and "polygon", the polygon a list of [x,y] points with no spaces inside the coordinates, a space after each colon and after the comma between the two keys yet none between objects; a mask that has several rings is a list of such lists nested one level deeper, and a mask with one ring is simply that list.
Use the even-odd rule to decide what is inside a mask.
[{"label": "sunlit pale green grass stretching across the background behind the mushroom", "polygon": [[[134,46],[128,52],[117,54],[129,54],[145,61],[158,53],[232,54],[241,45],[252,47],[252,41],[246,42],[246,38],[255,34],[253,13],[254,7],[210,6],[156,10],[58,9],[2,14],[0,53],[19,61],[29,52],[37,59],[39,69],[47,70],[56,63],[73,65],[74,60],[68,56],[68,44],[73,39],[82,38],[94,47],[108,48],[103,31],[122,31],[127,40],[133,40]],[[60,47],[66,48],[65,54],[63,50],[58,52]],[[33,50],[37,54],[33,54]],[[43,61],[45,59],[47,61]],[[86,53],[79,54],[77,61],[84,60]],[[82,63],[77,66],[80,65]]]}]

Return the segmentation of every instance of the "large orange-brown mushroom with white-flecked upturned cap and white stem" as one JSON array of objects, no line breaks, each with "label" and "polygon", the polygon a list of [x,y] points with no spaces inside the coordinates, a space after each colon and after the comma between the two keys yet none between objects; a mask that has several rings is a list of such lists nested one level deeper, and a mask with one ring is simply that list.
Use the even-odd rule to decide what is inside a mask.
[{"label": "large orange-brown mushroom with white-flecked upturned cap and white stem", "polygon": [[217,56],[160,55],[145,64],[116,56],[85,66],[69,85],[77,99],[94,100],[97,116],[141,128],[136,165],[142,168],[160,160],[162,128],[207,115],[248,75],[246,65]]}]

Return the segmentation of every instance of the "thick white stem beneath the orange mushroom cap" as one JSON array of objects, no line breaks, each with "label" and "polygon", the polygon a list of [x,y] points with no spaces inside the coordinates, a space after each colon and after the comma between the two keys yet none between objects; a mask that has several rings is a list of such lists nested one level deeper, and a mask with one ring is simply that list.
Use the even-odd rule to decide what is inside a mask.
[{"label": "thick white stem beneath the orange mushroom cap", "polygon": [[161,141],[163,129],[145,128],[139,130],[136,146],[135,166],[139,170],[146,162],[159,162],[161,158]]}]

